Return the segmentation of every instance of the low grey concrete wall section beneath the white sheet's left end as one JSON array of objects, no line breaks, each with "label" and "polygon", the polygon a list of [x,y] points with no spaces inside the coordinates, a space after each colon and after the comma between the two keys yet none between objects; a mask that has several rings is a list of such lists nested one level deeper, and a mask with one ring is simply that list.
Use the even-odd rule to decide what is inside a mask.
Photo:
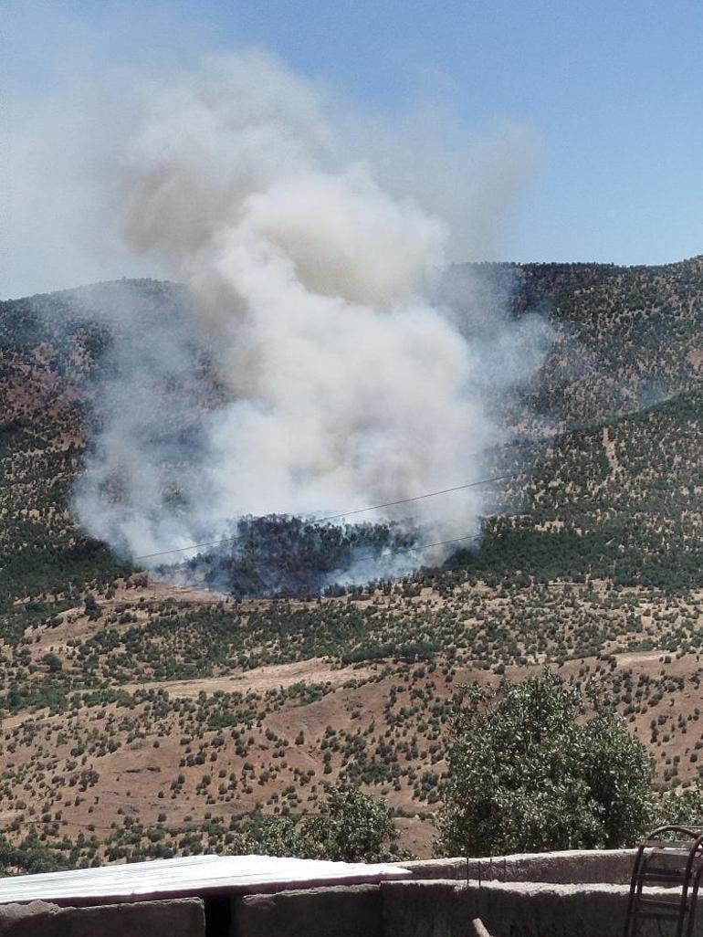
[{"label": "low grey concrete wall section beneath the white sheet's left end", "polygon": [[0,905],[0,937],[204,937],[202,901],[141,901],[59,908],[44,901]]}]

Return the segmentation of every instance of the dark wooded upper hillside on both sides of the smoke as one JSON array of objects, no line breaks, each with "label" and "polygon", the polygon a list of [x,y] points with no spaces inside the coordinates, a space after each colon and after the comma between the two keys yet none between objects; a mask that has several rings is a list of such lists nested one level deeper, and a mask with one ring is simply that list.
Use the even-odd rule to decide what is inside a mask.
[{"label": "dark wooded upper hillside on both sides of the smoke", "polygon": [[[696,577],[699,516],[682,492],[696,492],[698,482],[703,259],[661,267],[471,264],[454,267],[448,281],[458,305],[466,290],[473,302],[498,296],[511,315],[548,319],[551,349],[512,416],[519,423],[525,414],[532,426],[542,420],[546,440],[566,434],[554,448],[538,435],[496,455],[518,472],[496,502],[499,513],[506,503],[511,510],[487,520],[499,545],[494,551],[486,538],[471,562],[503,575],[519,558],[520,568],[540,566],[544,575],[544,556],[553,554],[549,575],[591,570],[633,582],[650,575],[648,558],[656,558],[662,569],[651,574],[660,584]],[[134,340],[148,341],[152,317],[182,316],[186,302],[178,285],[123,280],[0,303],[0,602],[125,568],[86,543],[67,516],[67,496],[96,376],[125,327],[120,309],[138,309]],[[613,537],[627,543],[624,553],[613,554]]]}]

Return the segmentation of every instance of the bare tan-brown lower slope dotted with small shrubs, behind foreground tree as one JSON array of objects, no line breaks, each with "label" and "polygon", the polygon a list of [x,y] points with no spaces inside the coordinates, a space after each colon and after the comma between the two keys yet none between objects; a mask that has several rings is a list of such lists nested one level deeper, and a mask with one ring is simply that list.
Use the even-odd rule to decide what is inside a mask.
[{"label": "bare tan-brown lower slope dotted with small shrubs, behind foreground tree", "polygon": [[[129,607],[139,609],[141,600],[152,598],[149,587],[131,591]],[[595,604],[596,617],[612,614],[604,590],[587,594],[573,587],[572,594],[579,607]],[[487,590],[484,597],[501,602]],[[673,618],[683,605],[669,602],[657,610],[641,592],[627,598],[638,609],[639,630],[609,642],[600,660],[565,662],[561,673],[582,684],[590,677],[599,681],[651,746],[662,780],[695,777],[703,747],[699,655],[623,649],[647,640],[652,612]],[[430,607],[442,601],[429,590],[422,597]],[[77,611],[67,617],[77,616],[83,639],[105,628]],[[148,629],[148,616],[140,627]],[[70,657],[61,627],[40,626],[32,637],[33,652],[51,649],[63,657],[67,676]],[[505,676],[520,678],[538,666],[509,665]],[[325,782],[347,778],[363,781],[407,817],[402,842],[426,855],[432,827],[422,818],[436,807],[445,769],[442,740],[453,686],[472,679],[496,684],[496,670],[500,665],[450,663],[442,654],[431,664],[387,660],[344,667],[317,658],[190,680],[132,682],[122,692],[95,690],[82,700],[80,693],[69,694],[66,708],[7,717],[0,817],[3,825],[20,822],[23,829],[35,823],[50,842],[95,834],[105,843],[98,855],[111,848],[151,855],[154,844],[141,827],[157,825],[165,830],[159,850],[183,848],[189,828],[198,831],[202,846],[222,848],[232,816],[256,806],[310,809]],[[213,818],[223,823],[203,834],[203,822]]]}]

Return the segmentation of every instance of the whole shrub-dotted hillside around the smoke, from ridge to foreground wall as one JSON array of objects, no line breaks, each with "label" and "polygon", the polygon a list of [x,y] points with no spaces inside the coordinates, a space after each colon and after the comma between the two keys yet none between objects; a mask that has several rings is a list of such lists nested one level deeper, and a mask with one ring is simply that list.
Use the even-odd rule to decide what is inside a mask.
[{"label": "whole shrub-dotted hillside around the smoke, from ridge to foreground wall", "polygon": [[310,809],[346,778],[426,855],[453,686],[545,662],[597,677],[663,782],[696,775],[701,261],[508,273],[516,312],[539,306],[557,330],[527,403],[572,428],[510,454],[513,512],[478,554],[320,602],[148,582],[67,513],[110,347],[85,307],[136,291],[148,322],[176,288],[0,304],[0,825],[73,861],[226,848],[232,815]]}]

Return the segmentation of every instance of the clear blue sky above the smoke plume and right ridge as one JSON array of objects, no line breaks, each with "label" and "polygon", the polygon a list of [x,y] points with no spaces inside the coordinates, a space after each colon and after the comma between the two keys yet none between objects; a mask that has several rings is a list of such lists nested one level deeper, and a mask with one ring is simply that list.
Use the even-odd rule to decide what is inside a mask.
[{"label": "clear blue sky above the smoke plume and right ridge", "polygon": [[[703,3],[672,0],[6,0],[6,96],[90,69],[277,52],[377,117],[418,103],[467,134],[526,127],[541,156],[505,260],[703,253]],[[495,250],[492,252],[495,254]]]}]

